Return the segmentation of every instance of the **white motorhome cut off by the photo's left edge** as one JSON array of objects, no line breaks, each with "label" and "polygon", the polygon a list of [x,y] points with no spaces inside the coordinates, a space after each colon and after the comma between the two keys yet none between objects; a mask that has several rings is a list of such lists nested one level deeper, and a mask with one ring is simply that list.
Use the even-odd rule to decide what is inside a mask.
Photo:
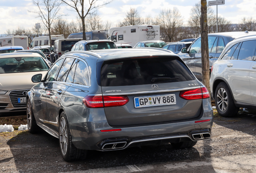
[{"label": "white motorhome cut off by the photo's left edge", "polygon": [[7,36],[0,37],[0,47],[2,46],[22,46],[24,50],[29,49],[29,42],[27,36]]}]

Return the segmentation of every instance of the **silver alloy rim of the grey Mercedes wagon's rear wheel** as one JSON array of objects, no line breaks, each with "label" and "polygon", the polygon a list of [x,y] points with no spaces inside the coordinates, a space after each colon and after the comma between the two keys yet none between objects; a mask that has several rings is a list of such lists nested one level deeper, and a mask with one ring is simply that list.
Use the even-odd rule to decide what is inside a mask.
[{"label": "silver alloy rim of the grey Mercedes wagon's rear wheel", "polygon": [[60,118],[60,149],[66,155],[68,149],[68,129],[64,117]]}]

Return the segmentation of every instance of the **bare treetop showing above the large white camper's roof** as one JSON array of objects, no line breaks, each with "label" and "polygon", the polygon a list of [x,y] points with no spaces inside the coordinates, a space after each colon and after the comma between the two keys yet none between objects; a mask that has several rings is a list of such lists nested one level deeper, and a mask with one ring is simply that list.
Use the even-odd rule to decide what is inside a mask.
[{"label": "bare treetop showing above the large white camper's roof", "polygon": [[121,26],[130,26],[143,24],[143,22],[138,11],[135,8],[130,8],[126,13],[126,18],[120,24]]}]

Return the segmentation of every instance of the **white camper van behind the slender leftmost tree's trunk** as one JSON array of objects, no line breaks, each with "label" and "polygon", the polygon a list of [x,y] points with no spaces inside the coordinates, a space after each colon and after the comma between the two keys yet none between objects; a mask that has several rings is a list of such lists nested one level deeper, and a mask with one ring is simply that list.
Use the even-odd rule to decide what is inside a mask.
[{"label": "white camper van behind the slender leftmost tree's trunk", "polygon": [[[64,38],[63,34],[61,34],[61,35],[52,35],[51,36],[52,46],[54,45],[55,40],[63,39],[63,38]],[[30,44],[30,49],[35,47],[35,46],[46,46],[46,45],[50,46],[49,39],[50,39],[49,36],[39,36],[39,37],[33,38],[32,42]]]}]

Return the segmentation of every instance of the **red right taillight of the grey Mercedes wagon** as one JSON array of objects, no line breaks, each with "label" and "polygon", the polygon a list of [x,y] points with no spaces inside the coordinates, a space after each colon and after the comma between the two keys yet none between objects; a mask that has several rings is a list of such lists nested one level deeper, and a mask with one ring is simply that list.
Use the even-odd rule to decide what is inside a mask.
[{"label": "red right taillight of the grey Mercedes wagon", "polygon": [[206,87],[202,87],[198,89],[181,91],[180,97],[186,100],[207,99],[210,98],[210,94]]}]

